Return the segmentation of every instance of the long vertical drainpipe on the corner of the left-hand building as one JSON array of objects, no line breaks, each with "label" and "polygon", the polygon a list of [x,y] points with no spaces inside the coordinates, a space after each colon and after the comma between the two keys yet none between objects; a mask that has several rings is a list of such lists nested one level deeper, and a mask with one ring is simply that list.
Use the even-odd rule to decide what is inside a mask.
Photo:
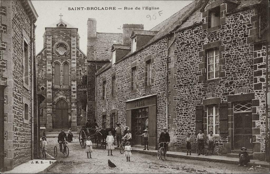
[{"label": "long vertical drainpipe on the corner of the left-hand building", "polygon": [[34,65],[33,65],[33,18],[31,19],[31,159],[34,159]]}]

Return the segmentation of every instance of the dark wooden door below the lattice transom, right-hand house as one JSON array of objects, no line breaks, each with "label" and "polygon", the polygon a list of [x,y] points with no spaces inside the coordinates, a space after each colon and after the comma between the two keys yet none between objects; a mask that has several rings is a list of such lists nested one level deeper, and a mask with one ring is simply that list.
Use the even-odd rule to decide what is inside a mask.
[{"label": "dark wooden door below the lattice transom, right-hand house", "polygon": [[239,150],[242,147],[252,151],[253,147],[250,143],[252,138],[252,114],[234,113],[234,150]]}]

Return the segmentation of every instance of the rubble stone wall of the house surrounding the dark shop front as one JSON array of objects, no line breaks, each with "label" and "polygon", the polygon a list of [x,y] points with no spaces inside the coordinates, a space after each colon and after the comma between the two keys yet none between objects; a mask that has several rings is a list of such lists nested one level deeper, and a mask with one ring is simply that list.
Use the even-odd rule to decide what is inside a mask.
[{"label": "rubble stone wall of the house surrounding the dark shop front", "polygon": [[[108,70],[101,72],[97,75],[97,123],[101,126],[101,116],[102,112],[107,111],[107,122],[109,121],[109,116],[112,109],[116,109],[117,112],[117,122],[120,122],[122,127],[126,125],[126,101],[141,97],[144,95],[158,94],[157,95],[157,137],[161,133],[161,129],[166,126],[166,53],[164,50],[167,48],[167,39],[161,39],[158,42],[146,47],[141,52],[124,59]],[[143,86],[144,78],[143,73],[145,71],[145,57],[150,54],[153,63],[152,67],[154,69],[152,73],[152,85],[149,88]],[[137,74],[139,84],[136,92],[130,90],[131,83],[131,64],[137,62]],[[152,62],[152,60],[151,60]],[[116,75],[116,93],[115,98],[111,97],[111,77],[112,73]],[[102,82],[103,78],[106,77],[107,85],[107,98],[102,100]],[[133,131],[131,130],[131,133]]]}]

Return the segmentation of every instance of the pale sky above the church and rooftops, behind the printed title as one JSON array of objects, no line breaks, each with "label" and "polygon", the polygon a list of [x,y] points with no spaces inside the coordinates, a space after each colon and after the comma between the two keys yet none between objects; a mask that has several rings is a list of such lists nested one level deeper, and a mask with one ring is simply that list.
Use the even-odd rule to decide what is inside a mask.
[{"label": "pale sky above the church and rooftops, behind the printed title", "polygon": [[[80,49],[87,54],[88,18],[96,19],[97,32],[100,33],[122,33],[123,24],[143,24],[144,30],[150,30],[191,2],[192,1],[32,0],[32,4],[39,16],[35,23],[35,25],[37,25],[35,30],[36,54],[43,49],[43,34],[45,32],[45,27],[58,21],[60,19],[60,13],[63,15],[62,19],[64,21],[78,28],[78,33],[80,35]],[[80,9],[77,10],[77,7],[80,7]],[[87,7],[89,7],[89,10],[87,10]],[[91,7],[93,7],[92,10]],[[95,10],[95,7],[100,9],[102,7],[115,7],[116,10]],[[136,9],[136,7],[140,9]],[[145,7],[148,7],[148,9]],[[74,10],[72,10],[72,8]]]}]

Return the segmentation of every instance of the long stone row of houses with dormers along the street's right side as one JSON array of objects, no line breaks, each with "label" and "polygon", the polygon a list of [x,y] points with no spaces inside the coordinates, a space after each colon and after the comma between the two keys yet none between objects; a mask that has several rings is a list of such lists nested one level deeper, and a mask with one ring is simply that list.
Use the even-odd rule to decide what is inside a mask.
[{"label": "long stone row of houses with dormers along the street's right side", "polygon": [[171,151],[185,149],[187,133],[195,139],[199,129],[212,130],[215,153],[233,156],[245,146],[265,158],[268,1],[194,1],[150,31],[131,30],[130,42],[113,44],[103,56],[111,62],[96,73],[100,126],[129,126],[138,147],[149,129],[152,149],[168,127]]}]

